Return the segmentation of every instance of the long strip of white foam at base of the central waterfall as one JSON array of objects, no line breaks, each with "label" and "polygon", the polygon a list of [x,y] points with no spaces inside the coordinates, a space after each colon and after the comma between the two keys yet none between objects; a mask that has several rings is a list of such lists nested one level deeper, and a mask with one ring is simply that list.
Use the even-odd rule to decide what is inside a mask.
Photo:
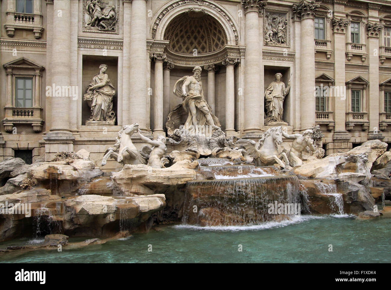
[{"label": "long strip of white foam at base of the central waterfall", "polygon": [[300,217],[293,217],[291,220],[283,220],[281,222],[266,222],[264,224],[253,226],[192,226],[192,225],[176,225],[173,226],[177,229],[194,229],[203,231],[259,231],[262,229],[272,229],[274,227],[285,227],[291,224],[298,224],[307,220],[327,218],[327,216],[314,216],[314,215],[302,215]]}]

